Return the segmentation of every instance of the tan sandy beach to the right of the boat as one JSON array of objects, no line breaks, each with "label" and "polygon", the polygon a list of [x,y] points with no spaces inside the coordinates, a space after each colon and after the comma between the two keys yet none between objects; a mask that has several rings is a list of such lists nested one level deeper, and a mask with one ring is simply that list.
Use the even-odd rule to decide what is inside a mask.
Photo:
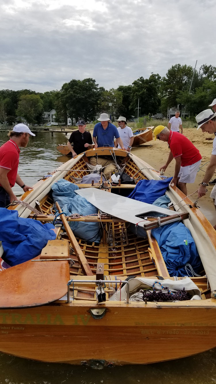
[{"label": "tan sandy beach to the right of the boat", "polygon": [[[204,171],[206,170],[211,157],[212,152],[212,146],[213,146],[213,140],[206,140],[207,138],[214,139],[214,135],[209,135],[208,133],[203,133],[201,129],[198,129],[198,131],[195,128],[186,128],[184,129],[184,132],[186,137],[193,142],[196,148],[199,149],[201,156],[202,156],[202,162],[201,166],[203,166],[196,175],[196,180],[194,184],[187,184],[187,190],[188,195],[195,192],[198,189],[199,184],[203,180]],[[150,164],[153,168],[158,169],[165,164],[167,161],[167,157],[169,154],[169,149],[166,142],[156,140],[149,142],[148,144],[143,144],[141,146],[132,148],[132,153],[134,153],[136,156],[140,157],[141,159],[145,160]],[[168,168],[165,171],[166,176],[173,176],[175,168],[175,160],[173,160]],[[216,178],[216,174],[214,174],[213,179]],[[198,200],[198,206],[200,207],[203,214],[208,218],[211,224],[216,223],[216,210],[214,209],[213,201],[210,199],[209,195],[211,193],[211,190],[213,189],[212,186],[207,187],[208,192],[206,193],[206,196],[202,197]],[[190,196],[190,199],[194,202],[197,198],[197,193]]]}]

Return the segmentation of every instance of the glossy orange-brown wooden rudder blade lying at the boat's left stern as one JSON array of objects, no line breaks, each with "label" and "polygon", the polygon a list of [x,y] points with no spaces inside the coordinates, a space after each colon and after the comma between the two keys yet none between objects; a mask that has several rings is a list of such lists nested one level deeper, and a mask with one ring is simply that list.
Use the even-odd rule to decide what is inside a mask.
[{"label": "glossy orange-brown wooden rudder blade lying at the boat's left stern", "polygon": [[[65,241],[68,243],[67,240]],[[56,259],[59,255],[59,260],[45,261],[36,257],[1,271],[0,309],[41,306],[66,295],[70,272],[68,260],[61,260],[64,252],[64,258],[66,258],[65,248],[66,246],[63,247],[62,243],[59,247],[48,245],[48,249],[55,251]]]}]

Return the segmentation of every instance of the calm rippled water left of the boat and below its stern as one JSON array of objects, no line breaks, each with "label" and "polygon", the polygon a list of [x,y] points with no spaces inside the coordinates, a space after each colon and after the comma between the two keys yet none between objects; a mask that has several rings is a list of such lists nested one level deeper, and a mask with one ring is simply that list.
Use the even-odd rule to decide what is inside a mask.
[{"label": "calm rippled water left of the boat and below its stern", "polygon": [[[0,145],[7,135],[0,132]],[[25,184],[33,185],[48,171],[63,164],[67,157],[59,156],[58,144],[68,141],[63,133],[38,132],[21,149],[18,172]],[[13,188],[20,195],[20,187]],[[99,342],[103,342],[102,340]],[[110,340],[110,343],[112,341]],[[68,346],[70,348],[70,346]],[[125,334],[127,348],[127,334]],[[158,347],[160,349],[160,345]],[[139,345],[137,345],[139,350]],[[58,354],[58,346],[56,345]],[[163,350],[161,351],[163,356]],[[216,349],[197,356],[145,366],[122,366],[95,370],[84,366],[48,364],[16,358],[0,353],[0,384],[133,384],[133,383],[214,383],[216,382]]]}]

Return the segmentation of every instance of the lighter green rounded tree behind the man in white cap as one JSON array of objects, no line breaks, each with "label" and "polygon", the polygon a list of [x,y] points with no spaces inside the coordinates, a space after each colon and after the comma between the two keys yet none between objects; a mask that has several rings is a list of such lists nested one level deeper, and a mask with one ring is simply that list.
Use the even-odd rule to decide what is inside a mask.
[{"label": "lighter green rounded tree behind the man in white cap", "polygon": [[16,113],[25,118],[30,124],[42,119],[43,103],[36,94],[23,94],[20,96]]}]

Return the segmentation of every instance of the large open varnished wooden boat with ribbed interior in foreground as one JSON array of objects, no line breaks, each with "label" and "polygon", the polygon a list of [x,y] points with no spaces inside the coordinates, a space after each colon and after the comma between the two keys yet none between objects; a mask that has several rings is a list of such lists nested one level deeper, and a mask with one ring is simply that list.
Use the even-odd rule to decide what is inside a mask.
[{"label": "large open varnished wooden boat with ribbed interior in foreground", "polygon": [[[77,175],[82,177],[88,174],[86,163],[89,157],[96,153],[98,156],[110,156],[110,151],[112,152],[113,149],[97,148],[70,159],[53,172],[53,177],[40,180],[32,191],[22,196],[21,200],[30,204],[31,207],[38,207],[36,203],[38,200],[43,214],[46,216],[52,214],[51,185],[61,178],[74,182],[74,177]],[[144,178],[155,180],[160,178],[157,170],[151,169],[146,162],[133,154],[115,149],[115,157],[119,164],[125,163],[125,172],[134,177],[136,182]],[[87,188],[86,185],[84,187]],[[93,185],[93,187],[98,186]],[[128,186],[129,192],[132,187]],[[79,188],[82,188],[82,185],[79,185]],[[123,191],[125,191],[123,185],[112,188],[112,193],[119,195]],[[109,194],[110,190],[103,193]],[[102,221],[102,217],[98,214],[91,220],[101,221],[101,242],[97,244],[86,242],[81,238],[76,239],[93,276],[84,275],[82,265],[74,253],[74,245],[70,242],[70,255],[66,255],[74,260],[70,268],[67,261],[35,260],[1,272],[7,300],[0,299],[0,308],[2,308],[0,309],[0,350],[40,361],[72,364],[84,362],[91,365],[92,362],[96,363],[100,360],[102,364],[109,365],[165,361],[214,348],[216,346],[215,231],[200,210],[193,206],[189,198],[184,199],[185,196],[176,187],[169,187],[167,194],[173,204],[176,204],[176,211],[190,214],[190,218],[183,222],[193,235],[205,270],[202,276],[193,277],[191,280],[200,289],[202,300],[160,303],[130,301],[129,304],[125,300],[109,300],[115,288],[120,288],[119,280],[124,281],[132,276],[137,276],[137,279],[151,278],[152,280],[157,279],[157,276],[164,278],[170,278],[170,276],[158,243],[152,237],[150,230],[147,231],[147,238],[138,237],[130,232],[129,223],[124,220],[108,217]],[[21,217],[33,217],[29,207],[18,205],[10,208],[17,209]],[[38,216],[38,219],[43,220],[43,217]],[[83,220],[86,219],[90,220],[90,217],[83,218]],[[74,218],[74,220],[79,219]],[[69,240],[68,234],[62,230],[58,238],[59,241],[60,239]],[[51,246],[49,255],[52,257],[53,254],[54,248]],[[31,266],[29,266],[30,263]],[[28,274],[29,277],[25,274],[24,284],[25,264],[28,268],[32,268],[32,273]],[[58,282],[59,265],[64,265],[64,272],[59,282],[61,294],[63,291],[67,292],[69,273],[71,280],[80,281],[74,283],[71,281],[70,302],[67,302],[66,298],[54,299],[55,295],[58,295],[58,290],[56,284],[53,284],[52,290],[50,279],[47,278],[48,271],[55,270],[53,276]],[[104,287],[106,302],[101,304],[96,302],[98,287],[95,283],[99,276],[99,265],[104,266],[102,276],[107,280]],[[33,272],[34,270],[36,272]],[[37,280],[32,280],[33,276],[39,274],[39,270],[40,284]],[[8,271],[10,271],[10,280],[8,280]],[[174,280],[174,278],[170,279]],[[179,278],[181,279],[184,278]],[[86,281],[89,280],[92,282],[87,283]],[[13,289],[7,289],[8,285]],[[1,291],[2,289],[1,286]],[[13,296],[13,303],[14,298],[17,303],[20,303],[20,290],[23,301],[25,290],[28,292],[28,298],[31,294],[34,300],[36,298],[38,300],[41,289],[52,291],[51,299],[42,306],[34,306],[32,303],[28,308],[21,308],[17,304],[15,308],[14,304],[10,304],[12,298],[7,294],[8,291]],[[43,292],[42,294],[45,297]],[[25,306],[25,302],[23,305]],[[58,353],[56,353],[56,347]]]}]

